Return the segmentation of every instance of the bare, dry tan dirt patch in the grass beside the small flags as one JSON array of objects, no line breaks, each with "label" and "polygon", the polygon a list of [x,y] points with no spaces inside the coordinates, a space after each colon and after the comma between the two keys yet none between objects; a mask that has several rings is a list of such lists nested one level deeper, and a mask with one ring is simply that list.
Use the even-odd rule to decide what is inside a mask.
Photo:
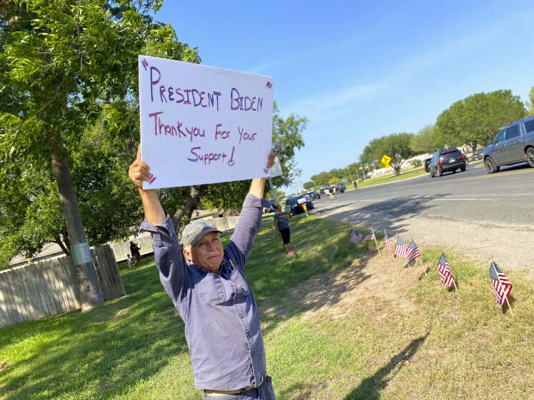
[{"label": "bare, dry tan dirt patch in the grass beside the small flags", "polygon": [[[371,251],[370,251],[371,253]],[[406,287],[412,286],[424,274],[420,261],[407,267],[405,259],[393,259],[382,250],[355,260],[350,266],[312,276],[292,289],[280,304],[267,306],[270,317],[286,317],[294,309],[304,309],[302,319],[327,315],[342,319],[362,304],[385,300],[401,312],[412,312],[415,304],[406,296]]]}]

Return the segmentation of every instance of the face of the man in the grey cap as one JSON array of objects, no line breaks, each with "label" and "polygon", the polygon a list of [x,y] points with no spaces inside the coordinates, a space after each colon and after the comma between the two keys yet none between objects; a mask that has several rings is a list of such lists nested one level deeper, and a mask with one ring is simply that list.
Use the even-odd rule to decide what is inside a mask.
[{"label": "face of the man in the grey cap", "polygon": [[219,232],[208,232],[197,241],[197,244],[190,244],[184,249],[186,259],[215,274],[219,271],[223,255],[224,249]]}]

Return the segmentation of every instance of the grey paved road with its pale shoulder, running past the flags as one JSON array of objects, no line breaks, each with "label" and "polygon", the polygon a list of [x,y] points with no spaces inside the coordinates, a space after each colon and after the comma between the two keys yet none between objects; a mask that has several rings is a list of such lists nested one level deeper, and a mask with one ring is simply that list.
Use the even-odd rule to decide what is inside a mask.
[{"label": "grey paved road with its pale shoulder, running past the flags", "polygon": [[443,246],[485,264],[525,269],[534,277],[534,169],[465,172],[371,186],[315,201],[315,213],[387,229],[420,246]]}]

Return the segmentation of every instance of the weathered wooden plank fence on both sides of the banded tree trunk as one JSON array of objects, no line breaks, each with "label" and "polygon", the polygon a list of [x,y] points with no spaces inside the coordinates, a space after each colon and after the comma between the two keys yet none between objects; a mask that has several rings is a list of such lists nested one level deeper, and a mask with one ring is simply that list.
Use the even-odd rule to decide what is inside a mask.
[{"label": "weathered wooden plank fence on both sides of the banded tree trunk", "polygon": [[[112,249],[102,246],[91,253],[104,301],[124,296]],[[0,271],[0,328],[80,309],[78,296],[71,257]]]}]

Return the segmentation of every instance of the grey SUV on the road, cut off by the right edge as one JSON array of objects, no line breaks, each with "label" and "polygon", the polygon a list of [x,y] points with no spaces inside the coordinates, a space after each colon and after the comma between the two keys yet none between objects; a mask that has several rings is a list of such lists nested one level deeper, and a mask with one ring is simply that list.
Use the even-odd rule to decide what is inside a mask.
[{"label": "grey SUV on the road, cut off by the right edge", "polygon": [[534,116],[515,121],[501,129],[482,151],[488,174],[503,165],[528,162],[534,168]]}]

